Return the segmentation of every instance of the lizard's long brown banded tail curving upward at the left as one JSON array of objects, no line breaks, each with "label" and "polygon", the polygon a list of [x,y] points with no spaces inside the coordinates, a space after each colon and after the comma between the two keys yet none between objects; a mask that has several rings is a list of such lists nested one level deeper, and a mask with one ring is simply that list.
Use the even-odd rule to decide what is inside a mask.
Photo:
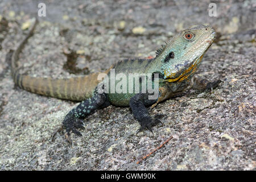
[{"label": "lizard's long brown banded tail curving upward at the left", "polygon": [[35,20],[28,35],[22,40],[11,57],[11,75],[15,84],[32,93],[66,100],[82,101],[91,97],[93,90],[101,81],[97,79],[100,73],[63,79],[31,77],[19,73],[19,68],[16,67],[16,61],[18,61],[19,53],[22,51],[24,44],[32,36],[37,22],[38,20]]}]

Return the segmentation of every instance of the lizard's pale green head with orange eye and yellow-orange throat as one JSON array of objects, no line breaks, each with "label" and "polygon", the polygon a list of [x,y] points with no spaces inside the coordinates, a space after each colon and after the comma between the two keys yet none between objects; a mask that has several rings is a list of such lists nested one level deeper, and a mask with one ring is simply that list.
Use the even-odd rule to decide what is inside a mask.
[{"label": "lizard's pale green head with orange eye and yellow-orange throat", "polygon": [[196,26],[181,31],[157,51],[161,72],[168,82],[191,78],[201,59],[216,38],[210,26]]}]

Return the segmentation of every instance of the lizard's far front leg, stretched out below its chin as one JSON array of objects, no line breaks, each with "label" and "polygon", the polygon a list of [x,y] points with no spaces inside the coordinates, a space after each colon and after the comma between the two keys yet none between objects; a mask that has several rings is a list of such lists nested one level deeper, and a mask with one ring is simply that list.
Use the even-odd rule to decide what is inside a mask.
[{"label": "lizard's far front leg, stretched out below its chin", "polygon": [[193,77],[191,79],[191,88],[193,89],[214,89],[220,84],[221,80],[210,82],[209,80],[201,77]]}]

